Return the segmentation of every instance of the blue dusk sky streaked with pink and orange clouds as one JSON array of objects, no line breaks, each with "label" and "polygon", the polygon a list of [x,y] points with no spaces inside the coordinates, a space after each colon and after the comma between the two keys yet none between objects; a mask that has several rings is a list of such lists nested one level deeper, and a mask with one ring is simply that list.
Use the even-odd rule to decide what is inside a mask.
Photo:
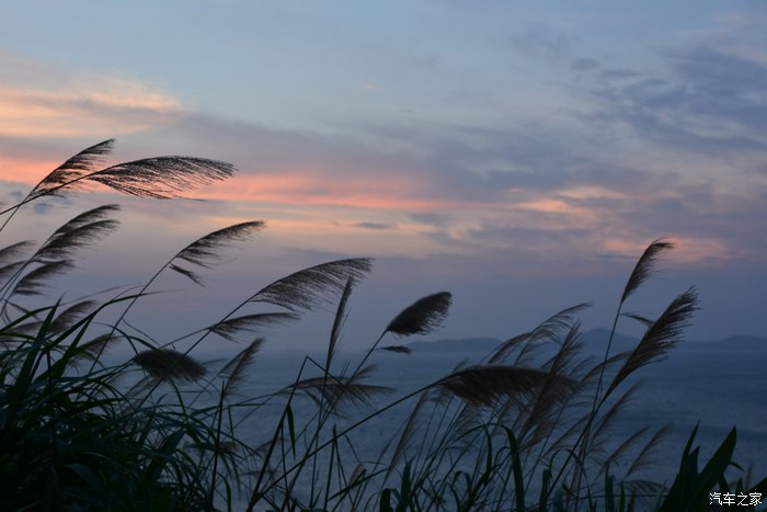
[{"label": "blue dusk sky streaked with pink and orange clouds", "polygon": [[[582,301],[584,328],[609,326],[660,237],[676,248],[628,309],[660,314],[696,286],[688,338],[767,335],[762,1],[0,5],[1,201],[108,138],[112,162],[238,169],[186,193],[205,201],[99,190],[27,206],[3,244],[122,204],[122,229],[62,280],[71,297],[140,284],[210,230],[266,221],[205,271],[205,288],[157,284],[134,312],[153,335],[351,257],[376,259],[353,295],[353,348],[443,289],[454,305],[433,338],[508,338]],[[322,346],[332,319],[328,304],[267,339]]]}]

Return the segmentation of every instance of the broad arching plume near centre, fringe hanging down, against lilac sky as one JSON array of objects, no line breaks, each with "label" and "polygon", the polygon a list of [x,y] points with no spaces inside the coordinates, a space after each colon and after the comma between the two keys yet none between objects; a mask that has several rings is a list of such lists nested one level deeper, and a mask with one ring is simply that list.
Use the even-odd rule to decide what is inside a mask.
[{"label": "broad arching plume near centre, fringe hanging down, against lilac sky", "polygon": [[297,311],[311,310],[320,301],[329,301],[328,293],[342,292],[350,277],[358,281],[370,271],[370,258],[331,261],[300,270],[262,288],[250,301],[272,304]]}]

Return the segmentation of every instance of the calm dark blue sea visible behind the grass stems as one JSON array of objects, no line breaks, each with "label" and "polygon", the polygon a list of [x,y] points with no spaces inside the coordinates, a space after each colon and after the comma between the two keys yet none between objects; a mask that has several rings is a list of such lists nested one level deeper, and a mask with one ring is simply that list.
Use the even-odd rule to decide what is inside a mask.
[{"label": "calm dark blue sea visible behind the grass stems", "polygon": [[[377,400],[376,403],[382,406],[446,375],[459,362],[477,361],[480,356],[478,353],[457,352],[413,352],[410,355],[380,352],[374,357],[377,369],[368,383],[396,389]],[[316,354],[316,357],[323,361],[320,354]],[[302,354],[259,354],[243,390],[247,395],[257,396],[289,384],[296,378],[302,360]],[[339,360],[343,361],[341,356]],[[671,483],[685,443],[696,424],[699,424],[696,445],[700,446],[701,466],[730,430],[736,426],[734,459],[744,468],[753,466],[753,483],[767,476],[766,369],[767,352],[764,351],[754,354],[694,348],[677,350],[667,360],[637,373],[642,385],[617,418],[613,437],[619,442],[643,425],[657,429],[671,423],[672,430],[655,452],[656,465],[650,474],[645,473],[656,481]],[[311,402],[305,400],[302,403]],[[386,446],[386,440],[407,421],[412,406],[413,401],[410,401],[356,429],[352,439],[357,455],[363,459],[375,458]],[[370,410],[363,408],[353,411],[347,420],[339,419],[339,428]],[[273,407],[261,408],[243,423],[243,432],[253,443],[264,441],[273,432],[281,411],[282,406],[277,402]],[[300,422],[307,413],[297,409],[297,421]],[[614,473],[620,475],[619,468]],[[730,474],[731,477],[741,475],[734,469]]]}]

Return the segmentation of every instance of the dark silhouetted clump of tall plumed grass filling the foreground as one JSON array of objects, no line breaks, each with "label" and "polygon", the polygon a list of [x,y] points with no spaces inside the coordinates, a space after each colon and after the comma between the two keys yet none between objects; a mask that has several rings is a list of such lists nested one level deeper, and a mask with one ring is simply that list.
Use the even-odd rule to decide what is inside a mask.
[{"label": "dark silhouetted clump of tall plumed grass filling the foreground", "polygon": [[[233,172],[224,162],[186,157],[102,168],[112,145],[88,148],[50,172],[0,213],[0,231],[25,204],[89,182],[164,198]],[[381,401],[391,390],[371,384],[377,354],[411,352],[400,343],[381,346],[384,339],[432,332],[453,297],[439,292],[415,300],[356,365],[340,362],[348,301],[370,271],[368,258],[295,272],[170,342],[128,321],[167,271],[204,285],[203,271],[231,243],[262,230],[261,220],[191,242],[137,292],[31,307],[28,297],[39,301],[49,281],[73,266],[79,249],[117,228],[117,211],[100,206],[39,246],[0,249],[0,510],[665,511],[706,510],[711,492],[767,490],[767,480],[748,487],[725,478],[734,429],[700,471],[694,432],[669,486],[643,476],[667,426],[640,425],[626,439],[614,437],[616,418],[637,389],[630,377],[682,342],[697,309],[689,288],[655,319],[623,310],[673,248],[669,241],[652,242],[640,257],[597,361],[584,355],[577,316],[587,305],[580,304],[476,364]],[[263,328],[298,320],[321,304],[335,306],[323,361],[307,356],[293,383],[245,394],[266,342]],[[116,320],[105,323],[107,312]],[[613,353],[623,319],[645,331],[632,350]],[[244,348],[222,364],[204,363],[196,349],[211,337],[244,341]],[[117,344],[133,355],[105,364],[105,352]],[[362,456],[362,426],[402,407],[410,413],[380,454]]]}]

